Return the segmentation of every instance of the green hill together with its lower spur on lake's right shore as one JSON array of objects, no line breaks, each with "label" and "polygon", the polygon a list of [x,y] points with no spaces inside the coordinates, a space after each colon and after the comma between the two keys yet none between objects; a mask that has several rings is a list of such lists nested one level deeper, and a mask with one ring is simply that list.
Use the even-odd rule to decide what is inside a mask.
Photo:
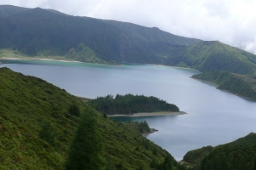
[{"label": "green hill together with its lower spur on lake's right shore", "polygon": [[213,82],[218,89],[256,99],[256,55],[218,41],[202,41],[166,59],[166,65],[193,68],[193,78]]}]

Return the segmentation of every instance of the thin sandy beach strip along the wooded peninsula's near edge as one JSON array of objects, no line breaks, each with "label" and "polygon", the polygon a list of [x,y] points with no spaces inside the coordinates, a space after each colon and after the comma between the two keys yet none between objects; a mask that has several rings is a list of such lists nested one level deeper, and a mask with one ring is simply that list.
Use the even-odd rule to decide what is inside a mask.
[{"label": "thin sandy beach strip along the wooded peninsula's near edge", "polygon": [[140,116],[177,116],[177,115],[184,115],[188,114],[184,111],[162,111],[162,112],[150,112],[150,113],[134,113],[133,115],[108,115],[108,116],[129,116],[129,117],[140,117]]}]

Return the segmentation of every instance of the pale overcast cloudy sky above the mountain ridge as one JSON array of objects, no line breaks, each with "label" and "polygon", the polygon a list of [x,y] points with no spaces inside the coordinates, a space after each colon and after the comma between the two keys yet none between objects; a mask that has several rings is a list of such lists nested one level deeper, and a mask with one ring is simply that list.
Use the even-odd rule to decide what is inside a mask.
[{"label": "pale overcast cloudy sky above the mountain ridge", "polygon": [[256,0],[0,0],[0,4],[155,26],[256,54]]}]

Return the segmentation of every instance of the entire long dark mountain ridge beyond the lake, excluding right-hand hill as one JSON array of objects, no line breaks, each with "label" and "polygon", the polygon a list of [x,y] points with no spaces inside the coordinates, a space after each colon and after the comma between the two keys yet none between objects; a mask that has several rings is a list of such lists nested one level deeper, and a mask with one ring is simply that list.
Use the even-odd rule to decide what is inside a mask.
[{"label": "entire long dark mountain ridge beyond the lake, excluding right-hand hill", "polygon": [[0,15],[0,48],[17,49],[31,56],[64,56],[83,43],[99,59],[160,64],[176,46],[186,47],[201,41],[156,28],[131,23],[118,26],[113,21],[76,17],[49,9],[8,6],[0,11],[4,11]]}]

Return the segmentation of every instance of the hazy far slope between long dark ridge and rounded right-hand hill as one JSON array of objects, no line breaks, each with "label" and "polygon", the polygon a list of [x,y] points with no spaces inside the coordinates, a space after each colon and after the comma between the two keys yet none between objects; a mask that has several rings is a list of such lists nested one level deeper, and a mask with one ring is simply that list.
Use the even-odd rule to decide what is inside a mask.
[{"label": "hazy far slope between long dark ridge and rounded right-hand hill", "polygon": [[179,37],[166,31],[160,31],[156,27],[148,28],[115,20],[101,21],[124,31],[139,48],[154,54],[161,64],[165,64],[166,59],[175,56],[177,52],[183,51],[186,47],[201,42],[195,38]]}]

